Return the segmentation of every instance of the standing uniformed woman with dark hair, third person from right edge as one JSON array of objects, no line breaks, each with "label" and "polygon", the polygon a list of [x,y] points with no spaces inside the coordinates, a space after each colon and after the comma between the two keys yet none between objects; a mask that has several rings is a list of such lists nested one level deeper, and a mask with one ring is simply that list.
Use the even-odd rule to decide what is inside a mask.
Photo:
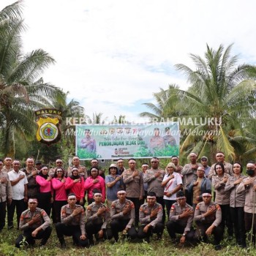
[{"label": "standing uniformed woman with dark hair, third person from right edge", "polygon": [[222,208],[221,226],[223,232],[225,231],[225,226],[227,226],[228,236],[231,237],[233,236],[233,224],[230,216],[230,191],[225,191],[227,178],[229,178],[230,175],[225,173],[225,167],[222,162],[217,162],[214,166],[214,171],[216,173],[212,176],[212,185],[216,192],[214,201],[219,204],[220,208]]}]

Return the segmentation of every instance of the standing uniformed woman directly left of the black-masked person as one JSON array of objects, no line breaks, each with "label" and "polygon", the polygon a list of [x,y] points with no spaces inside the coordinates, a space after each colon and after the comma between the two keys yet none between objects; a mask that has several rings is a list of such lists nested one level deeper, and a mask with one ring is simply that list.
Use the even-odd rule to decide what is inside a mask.
[{"label": "standing uniformed woman directly left of the black-masked person", "polygon": [[245,248],[246,236],[244,227],[244,203],[246,191],[244,190],[240,193],[236,192],[238,185],[244,178],[246,178],[246,176],[241,175],[242,171],[242,165],[239,162],[235,162],[233,164],[234,176],[227,178],[225,191],[230,192],[230,214],[231,221],[235,228],[236,243]]}]

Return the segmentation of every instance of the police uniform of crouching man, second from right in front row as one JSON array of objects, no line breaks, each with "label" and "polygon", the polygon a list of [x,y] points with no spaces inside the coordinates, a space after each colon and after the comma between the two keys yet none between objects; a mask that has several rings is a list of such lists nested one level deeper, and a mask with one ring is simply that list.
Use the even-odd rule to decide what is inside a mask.
[{"label": "police uniform of crouching man, second from right in front row", "polygon": [[188,203],[186,203],[184,208],[182,208],[179,203],[173,203],[173,206],[170,208],[169,221],[166,223],[170,238],[175,239],[176,233],[183,234],[189,241],[192,241],[194,238],[194,231],[192,230],[193,215],[179,219],[179,215],[188,208],[194,211],[192,206],[189,206]]}]

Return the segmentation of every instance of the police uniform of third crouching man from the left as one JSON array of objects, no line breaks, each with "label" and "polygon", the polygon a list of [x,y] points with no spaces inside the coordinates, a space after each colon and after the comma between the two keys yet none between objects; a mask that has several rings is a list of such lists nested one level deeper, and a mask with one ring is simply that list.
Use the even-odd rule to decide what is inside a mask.
[{"label": "police uniform of third crouching man from the left", "polygon": [[[105,208],[105,212],[100,216],[97,215],[99,208]],[[90,244],[93,242],[93,235],[96,235],[99,230],[103,230],[103,237],[111,239],[113,237],[110,224],[110,209],[103,203],[96,204],[95,202],[87,206],[86,209],[86,233],[88,235]]]}]

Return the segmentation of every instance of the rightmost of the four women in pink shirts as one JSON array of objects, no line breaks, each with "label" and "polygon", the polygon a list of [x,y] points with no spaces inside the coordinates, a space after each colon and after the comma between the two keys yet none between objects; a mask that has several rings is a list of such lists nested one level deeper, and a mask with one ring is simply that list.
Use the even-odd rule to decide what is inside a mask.
[{"label": "rightmost of the four women in pink shirts", "polygon": [[84,189],[88,192],[88,204],[94,202],[94,189],[100,190],[102,193],[102,203],[105,203],[105,180],[99,176],[99,170],[97,168],[92,168],[90,170],[90,176],[86,178]]}]

